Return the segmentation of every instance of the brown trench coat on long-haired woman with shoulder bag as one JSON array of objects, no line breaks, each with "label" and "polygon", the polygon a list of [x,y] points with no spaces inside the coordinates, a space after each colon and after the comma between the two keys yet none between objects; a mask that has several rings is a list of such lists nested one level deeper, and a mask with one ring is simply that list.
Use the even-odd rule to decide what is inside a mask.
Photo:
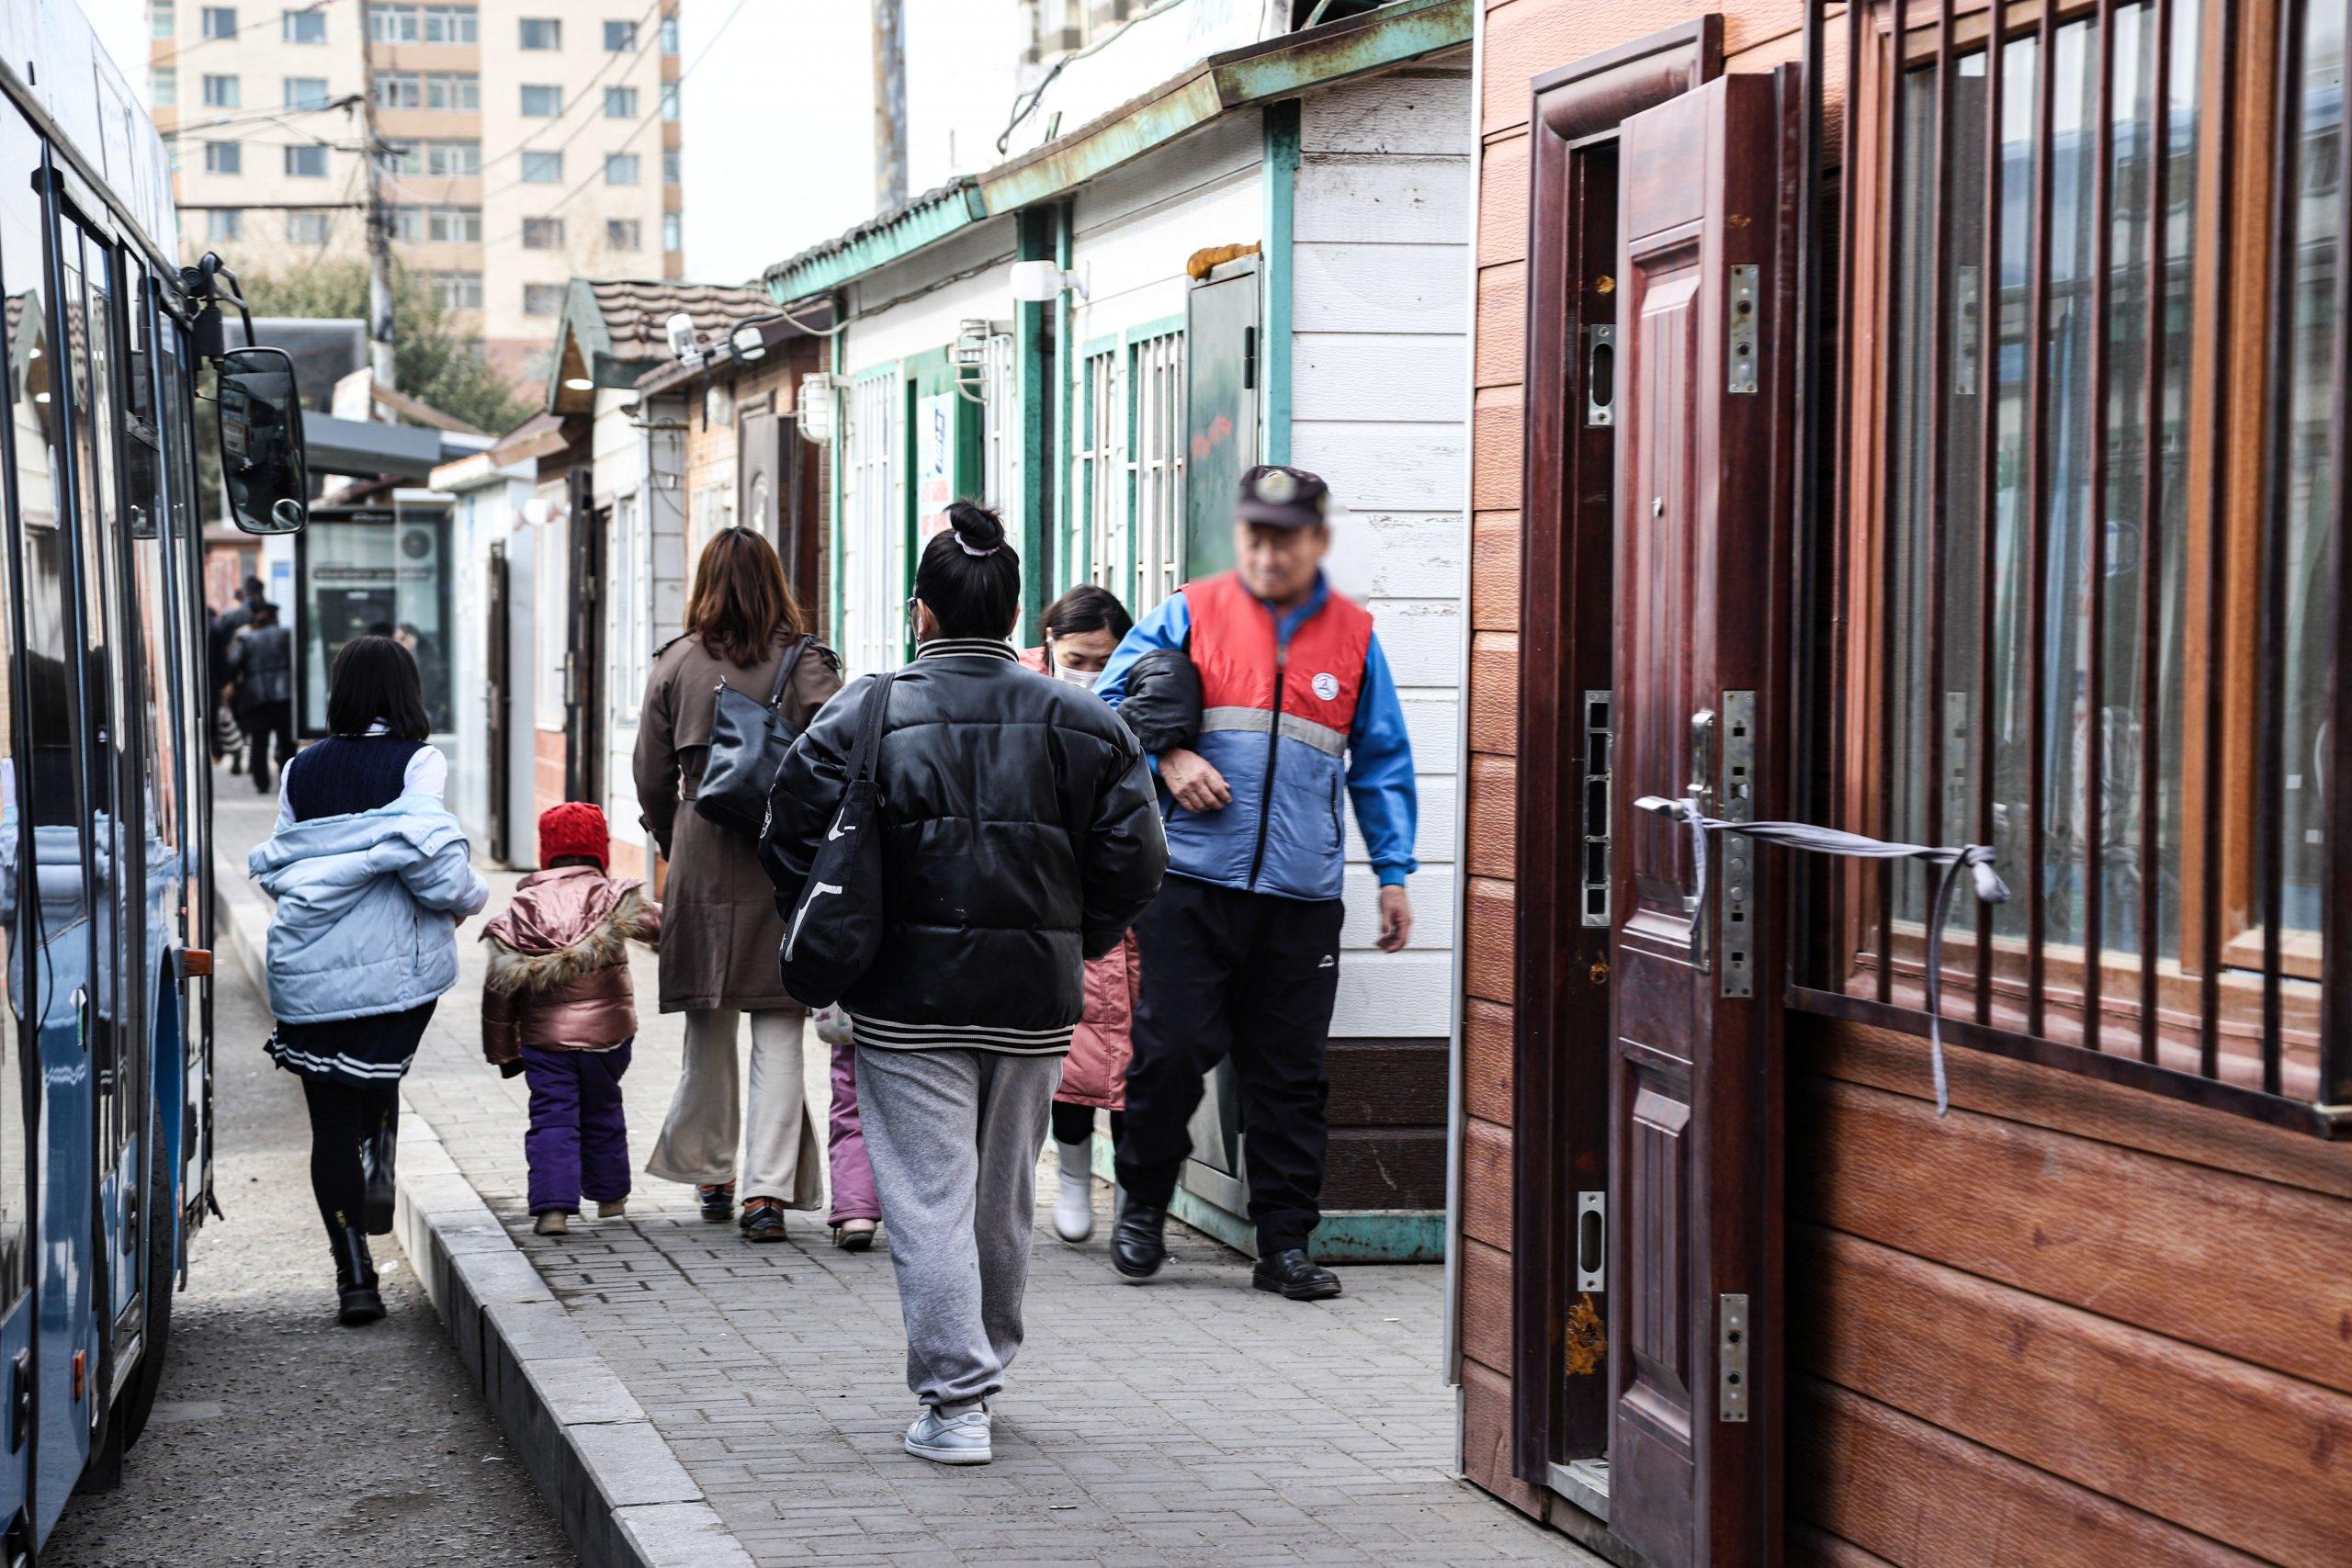
[{"label": "brown trench coat on long-haired woman with shoulder bag", "polygon": [[[703,649],[701,637],[677,637],[654,656],[637,717],[637,806],[644,827],[670,860],[661,889],[661,1011],[797,1009],[776,973],[783,922],[776,889],[760,870],[760,849],[694,809],[694,790],[710,755],[710,715],[720,682],[753,701],[776,684],[786,639],[755,668],[731,665]],[[842,689],[840,661],[816,644],[800,656],[783,712],[807,729],[816,710]]]}]

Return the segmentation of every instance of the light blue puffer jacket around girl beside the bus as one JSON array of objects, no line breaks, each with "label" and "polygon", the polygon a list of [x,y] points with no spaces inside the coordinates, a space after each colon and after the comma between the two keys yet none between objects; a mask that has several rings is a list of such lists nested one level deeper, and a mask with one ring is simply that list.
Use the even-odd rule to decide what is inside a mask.
[{"label": "light blue puffer jacket around girl beside the bus", "polygon": [[456,985],[456,917],[489,903],[466,830],[430,795],[280,827],[245,865],[278,900],[270,1013],[405,1013]]}]

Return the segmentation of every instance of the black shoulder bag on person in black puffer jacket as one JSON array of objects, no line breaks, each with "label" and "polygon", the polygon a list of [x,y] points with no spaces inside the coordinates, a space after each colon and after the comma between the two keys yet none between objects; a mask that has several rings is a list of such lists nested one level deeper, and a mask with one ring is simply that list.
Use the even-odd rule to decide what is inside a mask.
[{"label": "black shoulder bag on person in black puffer jacket", "polygon": [[776,954],[783,990],[811,1009],[840,1001],[882,950],[882,785],[875,783],[875,762],[891,679],[889,672],[877,675],[866,693],[858,738],[849,748],[842,809],[816,846],[809,879],[783,922],[783,950]]}]

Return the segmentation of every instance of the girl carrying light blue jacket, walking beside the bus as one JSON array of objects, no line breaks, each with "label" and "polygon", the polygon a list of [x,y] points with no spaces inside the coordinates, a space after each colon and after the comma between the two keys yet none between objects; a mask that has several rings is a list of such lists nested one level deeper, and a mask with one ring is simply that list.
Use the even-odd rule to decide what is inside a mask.
[{"label": "girl carrying light blue jacket, walking beside the bus", "polygon": [[456,924],[489,903],[442,804],[416,661],[390,637],[334,656],[327,738],[287,764],[278,832],[247,860],[270,919],[270,1058],[301,1077],[336,1319],[383,1316],[369,1234],[393,1229],[400,1077],[456,985]]}]

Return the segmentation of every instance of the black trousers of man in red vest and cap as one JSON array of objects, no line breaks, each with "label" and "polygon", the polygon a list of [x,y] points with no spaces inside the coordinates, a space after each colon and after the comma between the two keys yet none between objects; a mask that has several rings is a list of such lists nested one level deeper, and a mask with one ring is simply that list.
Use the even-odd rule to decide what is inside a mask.
[{"label": "black trousers of man in red vest and cap", "polygon": [[1258,1251],[1322,1218],[1324,1048],[1338,997],[1341,903],[1169,877],[1136,922],[1143,999],[1127,1065],[1120,1187],[1164,1208],[1192,1152],[1202,1074],[1232,1058]]}]

